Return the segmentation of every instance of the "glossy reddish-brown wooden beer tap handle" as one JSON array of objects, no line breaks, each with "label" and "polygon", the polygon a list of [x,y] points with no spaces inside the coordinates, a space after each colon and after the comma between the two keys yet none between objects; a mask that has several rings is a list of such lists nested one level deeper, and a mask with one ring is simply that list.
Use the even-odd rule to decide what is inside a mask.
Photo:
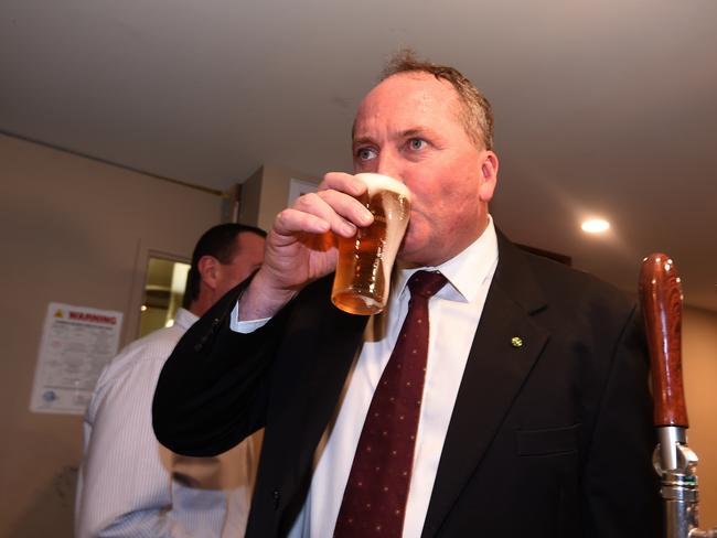
[{"label": "glossy reddish-brown wooden beer tap handle", "polygon": [[688,428],[682,383],[682,286],[665,254],[642,261],[640,300],[652,370],[654,424]]}]

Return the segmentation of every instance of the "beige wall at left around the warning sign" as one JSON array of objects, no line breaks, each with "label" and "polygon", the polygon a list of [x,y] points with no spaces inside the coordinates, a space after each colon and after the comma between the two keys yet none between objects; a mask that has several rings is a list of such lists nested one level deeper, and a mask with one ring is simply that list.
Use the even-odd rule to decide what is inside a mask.
[{"label": "beige wall at left around the warning sign", "polygon": [[148,254],[189,258],[221,203],[0,134],[0,536],[72,536],[82,420],[29,411],[47,303],[122,311],[133,340]]}]

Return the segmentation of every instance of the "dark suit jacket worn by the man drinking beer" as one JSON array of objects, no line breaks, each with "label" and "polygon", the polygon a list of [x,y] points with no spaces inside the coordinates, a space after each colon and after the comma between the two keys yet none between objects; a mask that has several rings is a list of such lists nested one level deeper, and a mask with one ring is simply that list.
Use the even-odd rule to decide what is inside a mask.
[{"label": "dark suit jacket worn by the man drinking beer", "polygon": [[[175,452],[215,454],[266,427],[249,537],[291,527],[361,345],[366,318],[335,309],[330,287],[312,283],[238,334],[228,314],[239,286],[186,333],[158,384],[156,433]],[[661,536],[648,366],[634,304],[499,236],[422,537]]]}]

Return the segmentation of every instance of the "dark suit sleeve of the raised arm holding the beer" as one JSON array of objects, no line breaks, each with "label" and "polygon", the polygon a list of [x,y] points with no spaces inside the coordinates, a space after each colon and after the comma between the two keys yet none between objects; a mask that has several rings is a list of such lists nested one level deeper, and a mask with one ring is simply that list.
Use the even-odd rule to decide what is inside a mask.
[{"label": "dark suit sleeve of the raised arm holding the beer", "polygon": [[289,308],[254,333],[232,331],[231,312],[246,284],[192,325],[164,364],[152,422],[173,452],[216,455],[265,426],[271,357]]}]

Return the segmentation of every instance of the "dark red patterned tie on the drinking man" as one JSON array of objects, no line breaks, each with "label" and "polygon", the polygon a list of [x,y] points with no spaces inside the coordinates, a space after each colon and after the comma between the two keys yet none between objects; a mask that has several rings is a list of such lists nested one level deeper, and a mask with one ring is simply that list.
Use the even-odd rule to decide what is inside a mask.
[{"label": "dark red patterned tie on the drinking man", "polygon": [[334,538],[402,536],[428,357],[428,300],[446,281],[428,271],[408,280],[408,313],[361,431]]}]

